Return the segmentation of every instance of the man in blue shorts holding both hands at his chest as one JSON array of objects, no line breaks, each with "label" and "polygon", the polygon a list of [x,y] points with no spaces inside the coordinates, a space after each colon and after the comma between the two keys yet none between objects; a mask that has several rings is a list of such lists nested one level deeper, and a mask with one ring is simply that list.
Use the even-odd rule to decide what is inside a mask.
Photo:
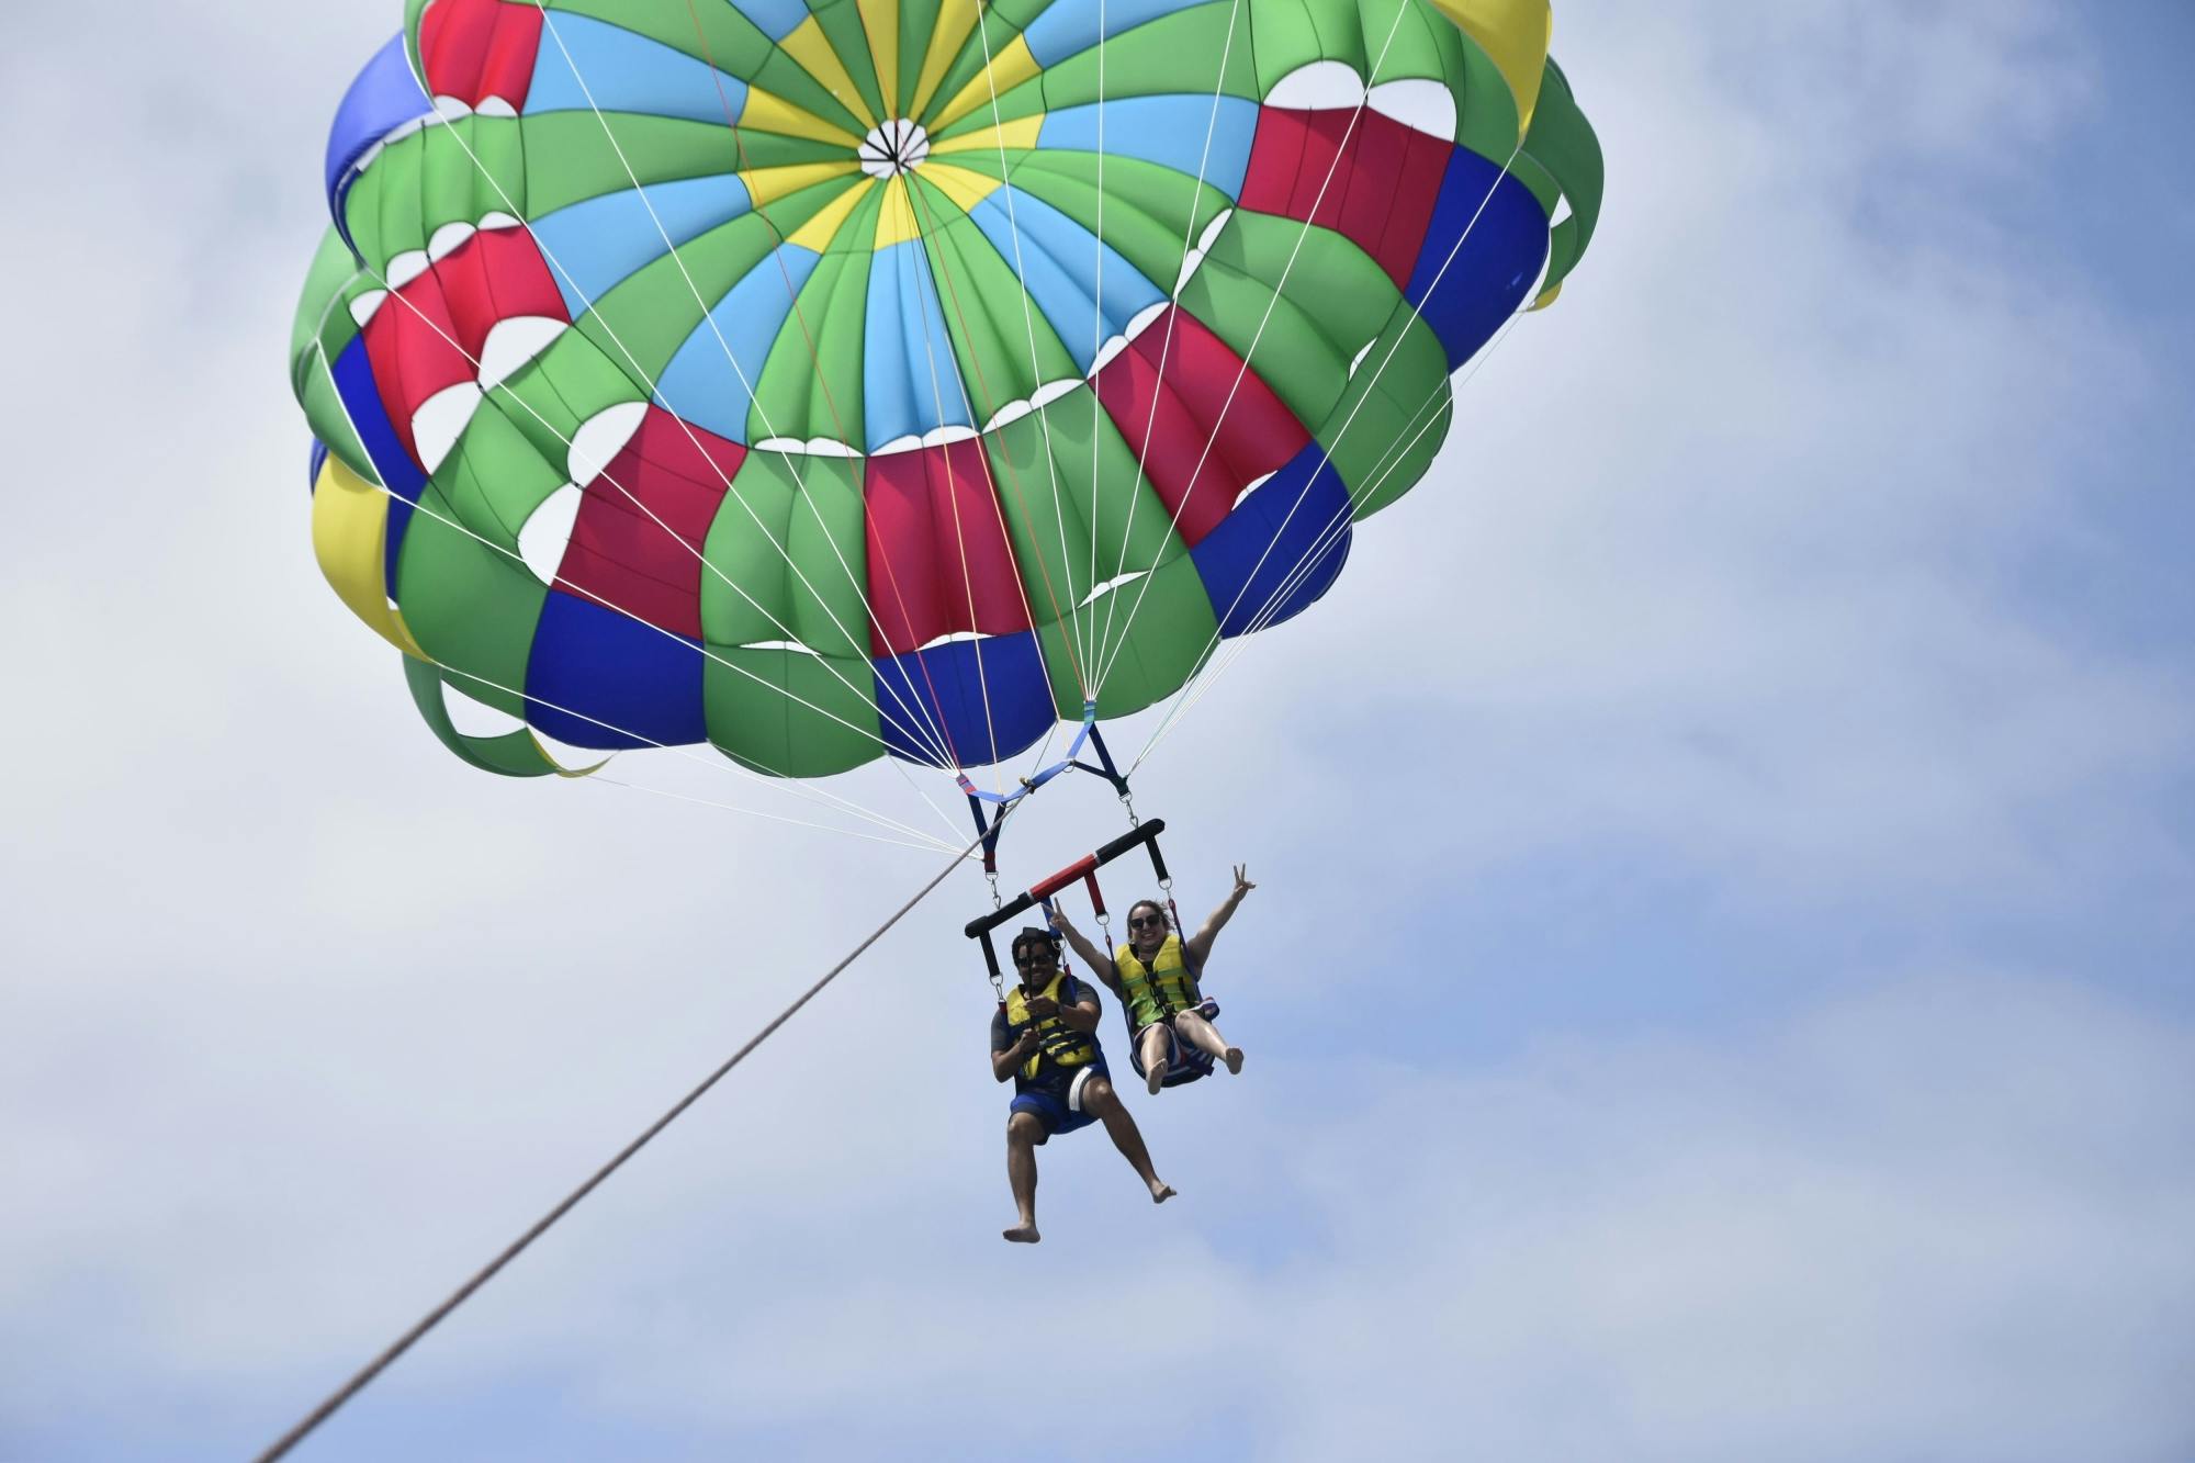
[{"label": "man in blue shorts holding both hands at his chest", "polygon": [[1021,984],[990,1021],[990,1074],[1014,1079],[1014,1101],[1005,1118],[1005,1177],[1014,1186],[1014,1228],[1005,1237],[1034,1246],[1036,1149],[1054,1133],[1071,1133],[1104,1123],[1113,1147],[1150,1188],[1152,1204],[1174,1191],[1159,1182],[1144,1149],[1144,1133],[1122,1105],[1098,1046],[1098,993],[1060,971],[1060,945],[1049,929],[1014,936],[1014,969]]}]

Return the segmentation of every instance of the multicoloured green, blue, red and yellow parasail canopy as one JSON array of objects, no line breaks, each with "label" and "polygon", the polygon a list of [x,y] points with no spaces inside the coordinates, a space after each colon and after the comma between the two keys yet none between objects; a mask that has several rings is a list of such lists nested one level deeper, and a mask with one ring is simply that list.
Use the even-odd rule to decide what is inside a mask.
[{"label": "multicoloured green, blue, red and yellow parasail canopy", "polygon": [[410,0],[314,545],[468,760],[986,764],[1341,571],[1600,200],[1545,0]]}]

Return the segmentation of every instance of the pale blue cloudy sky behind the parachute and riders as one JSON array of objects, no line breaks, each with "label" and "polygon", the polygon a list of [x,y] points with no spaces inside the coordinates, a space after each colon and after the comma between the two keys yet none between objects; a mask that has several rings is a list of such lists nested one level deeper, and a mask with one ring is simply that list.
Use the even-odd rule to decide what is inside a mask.
[{"label": "pale blue cloudy sky behind the parachute and riders", "polygon": [[[397,11],[9,20],[0,1459],[266,1445],[942,868],[474,773],[320,582]],[[1181,1197],[1062,1138],[999,1241],[959,874],[299,1456],[2195,1456],[2195,11],[1554,53],[1585,266],[1137,778],[1260,885],[1245,1074],[1130,1094]]]}]

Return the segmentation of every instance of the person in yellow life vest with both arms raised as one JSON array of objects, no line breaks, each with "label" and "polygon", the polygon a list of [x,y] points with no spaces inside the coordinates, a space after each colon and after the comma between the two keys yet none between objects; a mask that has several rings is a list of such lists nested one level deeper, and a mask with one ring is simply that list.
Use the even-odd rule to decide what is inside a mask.
[{"label": "person in yellow life vest with both arms raised", "polygon": [[1212,1024],[1220,1013],[1218,1002],[1205,999],[1196,982],[1205,973],[1212,942],[1234,918],[1242,896],[1258,887],[1247,874],[1249,865],[1236,863],[1234,892],[1187,940],[1168,929],[1166,909],[1155,898],[1139,898],[1128,909],[1128,942],[1111,956],[1091,945],[1065,914],[1054,916],[1076,953],[1126,1002],[1135,1032],[1130,1059],[1152,1096],[1161,1085],[1196,1081],[1214,1061],[1227,1063],[1229,1076],[1242,1074],[1242,1048],[1227,1046]]}]

